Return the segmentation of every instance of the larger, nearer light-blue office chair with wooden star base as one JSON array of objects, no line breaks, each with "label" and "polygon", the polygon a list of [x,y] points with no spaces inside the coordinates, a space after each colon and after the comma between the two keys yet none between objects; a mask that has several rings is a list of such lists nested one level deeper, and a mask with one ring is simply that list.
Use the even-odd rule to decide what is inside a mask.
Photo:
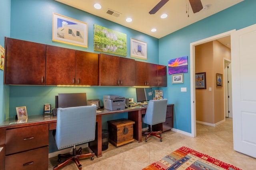
[{"label": "larger, nearer light-blue office chair with wooden star base", "polygon": [[82,154],[82,148],[76,150],[76,145],[88,143],[95,139],[96,129],[96,105],[94,106],[78,106],[58,108],[57,110],[57,125],[55,141],[58,149],[73,147],[73,154],[58,154],[60,158],[66,160],[53,169],[58,170],[71,162],[76,162],[79,170],[82,170],[82,165],[79,158],[91,157],[94,159],[94,153]]}]

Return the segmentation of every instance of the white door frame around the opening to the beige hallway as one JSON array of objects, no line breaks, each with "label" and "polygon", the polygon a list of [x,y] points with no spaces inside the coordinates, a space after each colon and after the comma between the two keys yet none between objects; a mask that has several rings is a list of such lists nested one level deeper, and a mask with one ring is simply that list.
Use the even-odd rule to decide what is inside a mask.
[{"label": "white door frame around the opening to the beige hallway", "polygon": [[190,43],[190,100],[191,100],[191,136],[192,137],[196,137],[196,96],[195,96],[196,88],[195,88],[195,84],[194,84],[195,73],[196,73],[196,71],[195,71],[195,46],[204,44],[204,43],[208,43],[210,41],[213,41],[213,40],[216,40],[216,39],[219,39],[222,37],[226,37],[228,35],[231,36],[231,33],[234,31],[236,31],[236,29]]}]

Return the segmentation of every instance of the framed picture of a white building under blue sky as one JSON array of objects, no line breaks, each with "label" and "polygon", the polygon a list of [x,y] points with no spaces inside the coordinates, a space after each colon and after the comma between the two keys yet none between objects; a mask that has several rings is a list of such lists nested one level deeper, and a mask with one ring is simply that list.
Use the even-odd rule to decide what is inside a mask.
[{"label": "framed picture of a white building under blue sky", "polygon": [[88,24],[53,13],[52,41],[88,47]]}]

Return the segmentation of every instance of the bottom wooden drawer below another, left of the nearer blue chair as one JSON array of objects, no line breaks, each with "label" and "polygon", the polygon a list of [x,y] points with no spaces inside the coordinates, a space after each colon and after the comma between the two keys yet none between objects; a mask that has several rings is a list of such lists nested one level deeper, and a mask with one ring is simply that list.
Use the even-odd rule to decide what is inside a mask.
[{"label": "bottom wooden drawer below another, left of the nearer blue chair", "polygon": [[48,147],[5,157],[6,170],[48,170]]}]

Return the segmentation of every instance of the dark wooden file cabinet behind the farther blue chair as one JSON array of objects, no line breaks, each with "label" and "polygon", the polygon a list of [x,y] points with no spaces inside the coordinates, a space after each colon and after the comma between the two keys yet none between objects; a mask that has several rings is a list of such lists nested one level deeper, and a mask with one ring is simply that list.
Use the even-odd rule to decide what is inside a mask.
[{"label": "dark wooden file cabinet behind the farther blue chair", "polygon": [[159,123],[152,126],[153,131],[168,131],[173,128],[173,106],[167,105],[166,109],[166,119],[164,123]]}]

